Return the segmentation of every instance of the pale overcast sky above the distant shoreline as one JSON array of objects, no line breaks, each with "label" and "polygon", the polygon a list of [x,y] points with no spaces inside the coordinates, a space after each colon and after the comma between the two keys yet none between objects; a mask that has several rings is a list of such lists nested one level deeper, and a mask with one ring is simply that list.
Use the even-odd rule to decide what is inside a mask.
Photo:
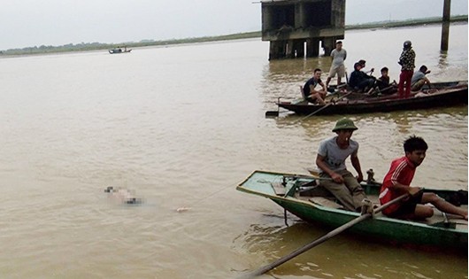
[{"label": "pale overcast sky above the distant shoreline", "polygon": [[[254,2],[254,4],[253,4]],[[0,50],[124,43],[261,29],[256,0],[0,0]],[[347,25],[442,16],[443,0],[347,0]],[[451,14],[467,14],[452,0]]]}]

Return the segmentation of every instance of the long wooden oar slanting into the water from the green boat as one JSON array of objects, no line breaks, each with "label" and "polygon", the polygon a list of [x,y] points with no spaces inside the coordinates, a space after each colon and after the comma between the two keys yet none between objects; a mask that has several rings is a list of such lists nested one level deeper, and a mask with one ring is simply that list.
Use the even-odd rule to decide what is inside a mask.
[{"label": "long wooden oar slanting into the water from the green boat", "polygon": [[365,214],[361,215],[360,217],[358,217],[358,218],[356,218],[356,219],[354,219],[354,220],[352,220],[348,223],[343,224],[341,227],[328,232],[326,235],[317,238],[316,240],[314,240],[310,244],[304,245],[303,247],[297,249],[294,252],[291,252],[290,254],[288,254],[287,256],[285,256],[285,257],[283,257],[279,260],[275,260],[270,265],[267,265],[265,267],[260,267],[257,270],[251,272],[250,274],[243,276],[242,278],[251,278],[251,277],[254,277],[254,276],[258,276],[258,275],[263,275],[263,274],[265,274],[265,272],[267,272],[267,271],[269,271],[269,270],[271,270],[275,267],[280,266],[282,263],[285,263],[286,261],[295,258],[299,254],[302,254],[302,253],[310,250],[312,247],[315,247],[319,244],[322,244],[323,242],[327,241],[328,239],[330,239],[334,236],[337,236],[338,234],[342,233],[342,231],[344,231],[346,229],[349,229],[350,227],[353,227],[354,225],[358,224],[359,222],[365,221],[366,219],[369,219],[369,218],[372,218],[373,214],[380,213],[382,210],[387,208],[389,205],[394,205],[394,204],[402,201],[404,198],[408,198],[409,196],[410,196],[410,194],[407,193],[407,194],[404,194],[404,195],[402,195],[398,198],[395,198],[395,199],[389,201],[388,203],[386,203],[384,205],[381,205],[380,207],[376,208],[373,211],[373,213],[365,213]]}]

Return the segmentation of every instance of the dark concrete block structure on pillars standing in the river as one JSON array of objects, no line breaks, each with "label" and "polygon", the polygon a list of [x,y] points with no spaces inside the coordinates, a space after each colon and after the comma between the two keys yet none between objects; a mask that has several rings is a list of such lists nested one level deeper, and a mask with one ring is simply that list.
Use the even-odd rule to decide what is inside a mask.
[{"label": "dark concrete block structure on pillars standing in the river", "polygon": [[[262,41],[270,41],[270,59],[325,55],[345,31],[345,0],[261,0]],[[306,48],[304,47],[306,43]],[[304,50],[306,49],[306,50]]]}]

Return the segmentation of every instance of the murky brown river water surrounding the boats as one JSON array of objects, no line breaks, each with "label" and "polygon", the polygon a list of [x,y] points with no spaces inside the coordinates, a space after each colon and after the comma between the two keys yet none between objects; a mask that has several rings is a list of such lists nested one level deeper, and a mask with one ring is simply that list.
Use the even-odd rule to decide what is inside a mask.
[{"label": "murky brown river water surrounding the boats", "polygon": [[[467,80],[467,25],[348,31],[347,67],[396,63],[411,40],[432,81]],[[260,39],[0,59],[0,277],[230,278],[327,232],[235,190],[255,169],[304,174],[340,116],[265,119],[329,58],[268,61]],[[326,77],[324,77],[326,78]],[[334,81],[333,81],[334,83]],[[467,106],[350,116],[381,179],[412,134],[415,185],[467,190]],[[143,205],[112,202],[104,188]],[[177,208],[188,207],[185,212]],[[265,278],[467,278],[467,258],[343,234]]]}]

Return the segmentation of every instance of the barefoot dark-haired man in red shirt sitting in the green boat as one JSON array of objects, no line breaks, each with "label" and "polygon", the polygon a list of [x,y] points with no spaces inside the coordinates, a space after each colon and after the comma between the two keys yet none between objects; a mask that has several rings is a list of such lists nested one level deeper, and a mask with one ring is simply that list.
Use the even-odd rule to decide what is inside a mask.
[{"label": "barefoot dark-haired man in red shirt sitting in the green boat", "polygon": [[404,157],[391,162],[388,174],[384,177],[380,191],[381,205],[406,193],[411,197],[403,203],[389,205],[382,213],[388,217],[399,219],[421,220],[432,217],[434,210],[427,203],[434,205],[443,213],[462,216],[467,220],[467,211],[451,205],[449,202],[431,192],[423,192],[419,187],[411,186],[417,167],[422,164],[428,145],[419,136],[410,136],[404,141]]}]

